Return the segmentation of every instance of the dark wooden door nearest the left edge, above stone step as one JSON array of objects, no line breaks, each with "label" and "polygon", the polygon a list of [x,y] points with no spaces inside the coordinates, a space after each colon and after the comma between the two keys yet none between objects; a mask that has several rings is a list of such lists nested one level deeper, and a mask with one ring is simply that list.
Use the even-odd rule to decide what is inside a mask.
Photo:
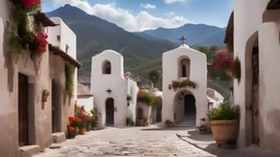
[{"label": "dark wooden door nearest the left edge, above stone step", "polygon": [[28,82],[19,73],[19,146],[28,144]]}]

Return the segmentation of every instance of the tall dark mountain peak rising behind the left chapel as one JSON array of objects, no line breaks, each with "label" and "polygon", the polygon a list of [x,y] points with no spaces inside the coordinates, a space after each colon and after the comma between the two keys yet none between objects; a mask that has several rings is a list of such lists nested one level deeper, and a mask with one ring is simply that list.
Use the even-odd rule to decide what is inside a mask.
[{"label": "tall dark mountain peak rising behind the left chapel", "polygon": [[[94,15],[89,15],[84,11],[66,4],[52,12],[48,16],[58,16],[75,33],[78,60],[83,64],[79,70],[79,76],[90,75],[91,58],[95,51],[113,49],[120,52],[125,59],[125,70],[148,77],[144,69],[139,69],[143,64],[154,62],[161,58],[164,51],[174,49],[178,45],[155,37],[139,36],[135,33],[126,32],[116,24],[109,23]],[[145,67],[147,68],[147,67]],[[148,67],[151,68],[151,67]]]}]

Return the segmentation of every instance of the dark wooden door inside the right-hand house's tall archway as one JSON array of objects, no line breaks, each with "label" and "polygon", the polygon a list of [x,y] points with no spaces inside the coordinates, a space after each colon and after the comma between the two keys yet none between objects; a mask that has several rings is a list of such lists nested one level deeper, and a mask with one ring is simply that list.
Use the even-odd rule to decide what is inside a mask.
[{"label": "dark wooden door inside the right-hand house's tall archway", "polygon": [[252,56],[252,106],[253,106],[253,143],[259,144],[259,60],[258,60],[258,48],[253,48]]}]

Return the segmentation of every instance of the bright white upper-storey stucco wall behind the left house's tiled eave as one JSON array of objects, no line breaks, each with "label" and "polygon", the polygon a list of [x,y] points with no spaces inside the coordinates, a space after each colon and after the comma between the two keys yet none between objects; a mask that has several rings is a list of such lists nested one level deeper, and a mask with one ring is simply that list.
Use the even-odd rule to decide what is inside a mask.
[{"label": "bright white upper-storey stucco wall behind the left house's tiled eave", "polygon": [[[49,44],[59,47],[61,50],[66,51],[67,45],[69,46],[68,55],[71,56],[73,59],[77,59],[77,36],[70,29],[66,23],[60,17],[50,17],[50,20],[59,24],[55,27],[48,27],[46,29],[48,34],[48,41]],[[60,35],[60,41],[57,40],[57,36]],[[77,93],[78,93],[78,70],[74,70],[74,89],[73,89],[73,96],[74,99],[77,99]]]}]

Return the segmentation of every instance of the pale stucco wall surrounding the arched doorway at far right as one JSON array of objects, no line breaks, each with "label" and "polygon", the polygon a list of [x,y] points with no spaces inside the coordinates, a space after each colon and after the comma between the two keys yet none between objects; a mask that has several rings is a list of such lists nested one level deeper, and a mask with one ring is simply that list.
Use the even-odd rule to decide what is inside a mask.
[{"label": "pale stucco wall surrounding the arched doorway at far right", "polygon": [[280,150],[280,67],[279,13],[273,21],[262,22],[269,0],[235,0],[234,55],[241,60],[241,82],[234,82],[234,104],[241,106],[238,145],[252,144],[252,48],[259,47],[259,138],[260,147]]}]

